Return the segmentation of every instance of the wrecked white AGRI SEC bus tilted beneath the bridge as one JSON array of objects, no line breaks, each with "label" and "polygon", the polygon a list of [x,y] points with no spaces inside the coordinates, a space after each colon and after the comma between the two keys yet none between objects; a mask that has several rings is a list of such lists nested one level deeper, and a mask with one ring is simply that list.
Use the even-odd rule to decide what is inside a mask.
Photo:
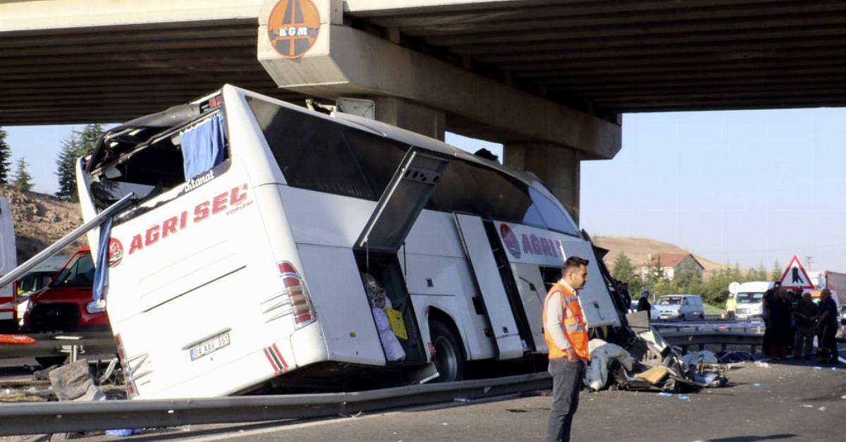
[{"label": "wrecked white AGRI SEC bus tilted beneath the bridge", "polygon": [[[456,380],[466,361],[536,356],[563,254],[591,259],[589,326],[620,323],[590,242],[540,182],[370,119],[223,86],[109,130],[77,174],[86,220],[135,192],[105,296],[132,397],[430,362]],[[402,318],[404,357],[386,356],[368,279]]]}]

